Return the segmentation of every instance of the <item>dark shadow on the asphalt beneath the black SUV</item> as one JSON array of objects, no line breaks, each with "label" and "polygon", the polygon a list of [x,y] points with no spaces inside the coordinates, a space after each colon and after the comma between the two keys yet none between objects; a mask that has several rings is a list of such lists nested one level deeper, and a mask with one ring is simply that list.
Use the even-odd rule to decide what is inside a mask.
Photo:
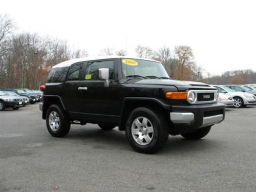
[{"label": "dark shadow on the asphalt beneath the black SUV", "polygon": [[[83,144],[91,144],[92,146],[97,144],[112,150],[118,147],[119,150],[133,151],[126,139],[125,132],[120,132],[117,129],[110,131],[103,131],[101,129],[97,129],[97,127],[93,129],[74,129],[71,130],[69,135],[65,138],[68,140],[74,140],[74,142],[79,139]],[[180,156],[186,153],[188,155],[193,153],[195,155],[197,152],[203,153],[206,150],[216,150],[221,147],[221,143],[210,138],[187,140],[181,136],[170,136],[166,145],[156,154]]]}]

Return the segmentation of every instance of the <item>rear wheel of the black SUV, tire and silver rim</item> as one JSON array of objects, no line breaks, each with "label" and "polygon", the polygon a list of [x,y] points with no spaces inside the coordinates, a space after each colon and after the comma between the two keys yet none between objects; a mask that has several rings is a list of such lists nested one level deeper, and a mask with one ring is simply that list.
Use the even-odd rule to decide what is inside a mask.
[{"label": "rear wheel of the black SUV, tire and silver rim", "polygon": [[46,125],[53,137],[64,137],[70,130],[70,118],[59,105],[52,104],[46,113]]}]

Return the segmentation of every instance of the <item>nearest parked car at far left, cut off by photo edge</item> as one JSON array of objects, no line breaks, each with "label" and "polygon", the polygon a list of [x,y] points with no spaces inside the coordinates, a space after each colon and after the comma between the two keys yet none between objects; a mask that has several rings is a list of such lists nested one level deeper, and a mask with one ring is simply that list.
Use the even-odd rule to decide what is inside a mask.
[{"label": "nearest parked car at far left, cut off by photo edge", "polygon": [[11,96],[3,91],[0,91],[0,111],[4,111],[6,108],[17,110],[22,105],[22,98]]}]

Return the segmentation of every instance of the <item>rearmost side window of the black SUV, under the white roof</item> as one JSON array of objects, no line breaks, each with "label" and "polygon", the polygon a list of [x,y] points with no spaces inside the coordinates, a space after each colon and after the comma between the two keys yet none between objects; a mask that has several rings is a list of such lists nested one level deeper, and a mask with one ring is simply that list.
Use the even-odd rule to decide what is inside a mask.
[{"label": "rearmost side window of the black SUV, under the white roof", "polygon": [[68,73],[68,69],[69,69],[68,67],[51,69],[48,75],[47,83],[65,81]]}]

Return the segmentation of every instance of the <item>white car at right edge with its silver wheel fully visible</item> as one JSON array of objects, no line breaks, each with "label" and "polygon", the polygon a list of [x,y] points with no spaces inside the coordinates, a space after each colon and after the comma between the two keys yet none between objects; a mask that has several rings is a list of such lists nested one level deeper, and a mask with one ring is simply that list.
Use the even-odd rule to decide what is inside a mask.
[{"label": "white car at right edge with its silver wheel fully visible", "polygon": [[246,105],[253,105],[256,104],[256,97],[253,94],[246,93],[246,92],[236,92],[235,90],[232,90],[230,88],[227,88],[225,86],[214,86],[219,93],[228,94],[234,99],[234,108],[242,108]]}]

